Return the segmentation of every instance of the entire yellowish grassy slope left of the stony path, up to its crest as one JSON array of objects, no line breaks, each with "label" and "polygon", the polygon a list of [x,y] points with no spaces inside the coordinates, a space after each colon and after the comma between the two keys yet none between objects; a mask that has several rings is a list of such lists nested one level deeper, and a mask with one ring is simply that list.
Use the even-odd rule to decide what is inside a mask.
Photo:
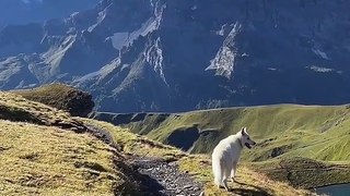
[{"label": "entire yellowish grassy slope left of the stony path, up to its crest", "polygon": [[68,113],[7,93],[0,93],[0,108],[1,195],[139,189],[132,175],[126,175],[131,168],[125,158]]}]

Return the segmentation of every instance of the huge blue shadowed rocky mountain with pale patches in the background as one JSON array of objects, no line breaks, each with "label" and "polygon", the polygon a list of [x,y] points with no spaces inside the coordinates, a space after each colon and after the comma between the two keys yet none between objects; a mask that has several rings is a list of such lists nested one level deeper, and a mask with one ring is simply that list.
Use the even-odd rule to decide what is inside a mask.
[{"label": "huge blue shadowed rocky mountain with pale patches in the background", "polygon": [[65,82],[98,110],[349,102],[345,0],[102,0],[0,32],[0,87]]}]

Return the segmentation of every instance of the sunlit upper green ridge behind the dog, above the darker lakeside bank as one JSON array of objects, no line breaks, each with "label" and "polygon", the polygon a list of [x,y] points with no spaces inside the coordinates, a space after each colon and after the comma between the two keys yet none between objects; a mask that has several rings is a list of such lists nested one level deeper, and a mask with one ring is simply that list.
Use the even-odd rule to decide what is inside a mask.
[{"label": "sunlit upper green ridge behind the dog, above the darker lakeside bank", "polygon": [[[197,154],[209,154],[221,138],[247,126],[259,145],[245,152],[245,160],[264,161],[275,157],[303,156],[347,161],[350,159],[349,111],[348,106],[231,108],[171,114],[161,123],[145,119],[127,126],[136,133],[148,130],[148,126],[155,127],[147,136],[165,144],[171,144],[168,138],[180,130],[196,127],[200,134],[192,139],[190,151]],[[155,119],[154,115],[152,118]]]}]

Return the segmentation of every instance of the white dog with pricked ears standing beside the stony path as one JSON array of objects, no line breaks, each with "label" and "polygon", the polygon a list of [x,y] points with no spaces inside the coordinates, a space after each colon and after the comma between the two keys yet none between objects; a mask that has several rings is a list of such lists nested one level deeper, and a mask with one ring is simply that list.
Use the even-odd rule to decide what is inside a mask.
[{"label": "white dog with pricked ears standing beside the stony path", "polygon": [[231,177],[233,181],[243,147],[252,148],[255,144],[249,138],[247,128],[242,127],[238,133],[230,135],[217,145],[211,155],[211,161],[214,183],[218,187],[223,186],[229,191],[228,179]]}]

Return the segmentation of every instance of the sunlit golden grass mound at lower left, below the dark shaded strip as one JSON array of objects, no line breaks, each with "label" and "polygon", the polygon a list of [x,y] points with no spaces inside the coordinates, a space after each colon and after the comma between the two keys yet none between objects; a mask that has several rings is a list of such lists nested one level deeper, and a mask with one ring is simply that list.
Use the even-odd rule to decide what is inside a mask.
[{"label": "sunlit golden grass mound at lower left, below the dark shaded strip", "polygon": [[[136,187],[89,134],[0,120],[1,195],[114,195]],[[129,189],[127,189],[127,188]]]}]

